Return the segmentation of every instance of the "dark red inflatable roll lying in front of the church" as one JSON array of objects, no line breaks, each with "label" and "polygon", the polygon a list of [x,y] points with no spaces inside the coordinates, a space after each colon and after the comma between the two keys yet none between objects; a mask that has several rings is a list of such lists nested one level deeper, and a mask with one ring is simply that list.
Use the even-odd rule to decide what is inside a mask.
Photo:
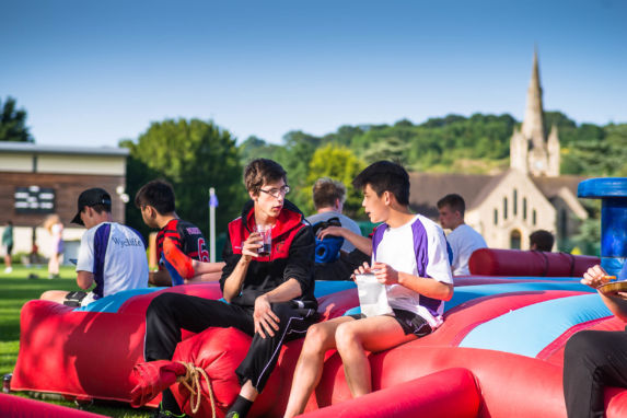
[{"label": "dark red inflatable roll lying in front of the church", "polygon": [[480,248],[468,260],[471,275],[581,277],[599,257],[541,251]]}]

